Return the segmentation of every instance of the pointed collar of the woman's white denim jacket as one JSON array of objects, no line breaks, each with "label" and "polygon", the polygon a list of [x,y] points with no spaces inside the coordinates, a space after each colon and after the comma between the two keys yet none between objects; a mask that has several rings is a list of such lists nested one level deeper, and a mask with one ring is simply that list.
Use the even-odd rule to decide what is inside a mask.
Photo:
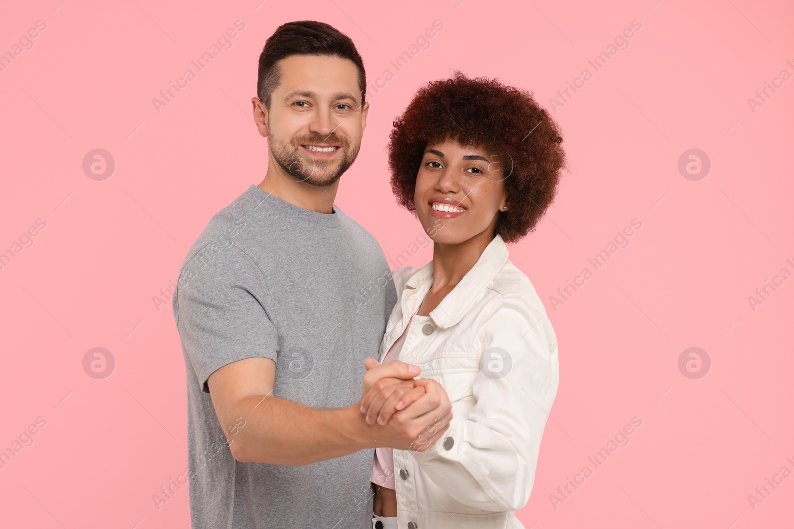
[{"label": "pointed collar of the woman's white denim jacket", "polygon": [[[472,270],[468,270],[455,288],[441,300],[436,309],[430,312],[430,317],[433,318],[437,327],[442,329],[452,327],[472,310],[477,301],[482,298],[484,290],[488,288],[488,285],[496,278],[496,274],[499,274],[499,270],[502,270],[504,264],[507,263],[507,253],[507,247],[502,237],[497,234],[494,240],[491,240],[485,247],[480,259],[477,259],[475,265],[472,266]],[[416,312],[418,304],[424,298],[424,296],[416,297],[416,293],[427,293],[432,285],[433,261],[430,261],[417,270],[405,284],[404,299],[414,301],[412,305],[415,306],[408,309],[403,305],[403,309]]]}]

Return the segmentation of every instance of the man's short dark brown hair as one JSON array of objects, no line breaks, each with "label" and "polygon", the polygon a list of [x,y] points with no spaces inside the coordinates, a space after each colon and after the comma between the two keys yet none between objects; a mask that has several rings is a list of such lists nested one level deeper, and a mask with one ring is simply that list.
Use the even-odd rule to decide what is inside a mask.
[{"label": "man's short dark brown hair", "polygon": [[299,21],[280,25],[264,43],[259,54],[256,97],[268,109],[273,90],[281,84],[279,60],[293,55],[330,55],[353,61],[358,69],[358,87],[361,90],[361,105],[364,105],[367,77],[364,74],[364,61],[353,40],[324,22]]}]

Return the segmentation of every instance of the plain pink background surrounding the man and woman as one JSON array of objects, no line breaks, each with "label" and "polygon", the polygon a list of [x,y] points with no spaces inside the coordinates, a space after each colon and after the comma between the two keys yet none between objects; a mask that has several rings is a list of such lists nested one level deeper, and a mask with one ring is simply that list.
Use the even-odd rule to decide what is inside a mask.
[{"label": "plain pink background surrounding the man and woman", "polygon": [[[0,470],[2,526],[189,526],[187,487],[159,510],[152,500],[187,465],[179,335],[170,304],[158,312],[152,297],[207,220],[263,177],[256,58],[278,25],[311,18],[355,40],[370,80],[444,25],[372,98],[337,197],[387,259],[422,233],[391,197],[384,152],[422,82],[456,68],[499,77],[551,110],[566,82],[594,73],[588,59],[642,23],[557,109],[570,171],[537,232],[511,247],[557,331],[561,371],[518,516],[536,529],[792,527],[794,477],[748,500],[782,466],[794,472],[794,279],[755,310],[748,301],[782,268],[794,273],[794,81],[755,112],[748,103],[781,70],[794,74],[791,4],[259,1],[4,8],[0,52],[36,21],[47,27],[0,72],[0,251],[47,225],[0,270],[0,450],[46,420]],[[237,20],[233,48],[157,113],[152,98]],[[102,182],[83,173],[94,148],[117,166]],[[711,159],[698,182],[677,168],[690,148]],[[555,311],[549,297],[634,218],[630,246]],[[110,378],[84,372],[92,347],[114,355]],[[680,372],[688,347],[711,358],[704,378]],[[635,416],[630,444],[594,470],[588,456]],[[555,508],[549,496],[583,466],[592,476]]]}]

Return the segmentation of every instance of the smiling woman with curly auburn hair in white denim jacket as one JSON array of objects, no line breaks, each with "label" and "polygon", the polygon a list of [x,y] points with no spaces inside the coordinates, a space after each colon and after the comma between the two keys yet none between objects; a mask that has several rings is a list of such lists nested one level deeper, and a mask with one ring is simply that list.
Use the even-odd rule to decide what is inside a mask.
[{"label": "smiling woman with curly auburn hair in white denim jacket", "polygon": [[[530,93],[457,72],[418,90],[390,138],[391,188],[434,251],[421,269],[393,274],[399,301],[380,360],[420,366],[453,418],[430,447],[376,449],[373,526],[522,527],[513,512],[530,496],[557,393],[557,339],[505,243],[553,201],[565,167],[559,128]],[[372,389],[362,409],[385,424],[423,393],[422,379]]]}]

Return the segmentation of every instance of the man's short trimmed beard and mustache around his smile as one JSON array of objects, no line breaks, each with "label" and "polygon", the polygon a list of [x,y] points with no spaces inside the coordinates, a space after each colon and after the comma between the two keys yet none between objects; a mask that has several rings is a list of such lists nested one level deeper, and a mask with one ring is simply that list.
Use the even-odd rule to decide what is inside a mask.
[{"label": "man's short trimmed beard and mustache around his smile", "polygon": [[[270,149],[273,159],[288,176],[296,182],[306,182],[310,186],[327,187],[339,181],[342,174],[356,160],[361,144],[350,143],[345,137],[329,134],[321,136],[317,132],[310,136],[292,138],[289,143],[277,140],[271,135]],[[340,159],[314,159],[306,154],[301,145],[335,144],[341,151]]]}]

